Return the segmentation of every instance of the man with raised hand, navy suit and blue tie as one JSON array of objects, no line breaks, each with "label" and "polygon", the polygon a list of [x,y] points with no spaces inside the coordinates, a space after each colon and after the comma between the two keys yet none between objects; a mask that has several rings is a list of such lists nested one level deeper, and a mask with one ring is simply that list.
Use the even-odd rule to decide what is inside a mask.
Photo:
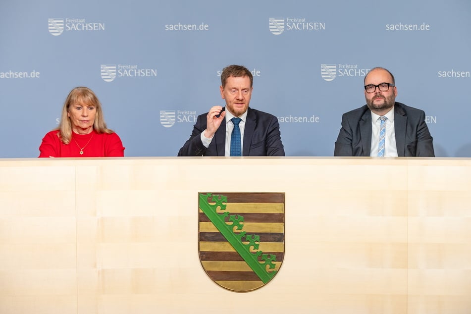
[{"label": "man with raised hand, navy suit and blue tie", "polygon": [[244,66],[222,70],[219,90],[226,106],[198,116],[178,156],[285,156],[278,119],[249,108],[253,80]]}]

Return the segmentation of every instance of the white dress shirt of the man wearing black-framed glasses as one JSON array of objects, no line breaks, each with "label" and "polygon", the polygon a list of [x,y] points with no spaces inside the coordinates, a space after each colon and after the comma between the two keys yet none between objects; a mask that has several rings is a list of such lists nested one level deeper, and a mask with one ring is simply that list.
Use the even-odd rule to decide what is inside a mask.
[{"label": "white dress shirt of the man wearing black-framed glasses", "polygon": [[[386,123],[386,138],[384,139],[384,157],[397,157],[396,134],[394,130],[394,106],[384,115]],[[377,157],[379,149],[379,129],[381,127],[381,115],[371,111],[371,151],[369,156]]]}]

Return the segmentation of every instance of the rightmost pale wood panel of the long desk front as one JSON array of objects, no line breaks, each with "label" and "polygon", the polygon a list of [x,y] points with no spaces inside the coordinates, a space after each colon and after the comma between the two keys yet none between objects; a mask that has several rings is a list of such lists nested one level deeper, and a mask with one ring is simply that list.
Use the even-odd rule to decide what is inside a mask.
[{"label": "rightmost pale wood panel of the long desk front", "polygon": [[469,160],[409,166],[409,313],[471,313]]}]

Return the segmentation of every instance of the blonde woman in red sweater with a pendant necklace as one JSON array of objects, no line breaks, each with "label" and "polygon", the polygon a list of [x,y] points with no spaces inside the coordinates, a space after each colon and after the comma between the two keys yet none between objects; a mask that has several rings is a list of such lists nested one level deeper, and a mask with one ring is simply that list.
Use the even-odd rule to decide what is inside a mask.
[{"label": "blonde woman in red sweater with a pendant necklace", "polygon": [[74,88],[62,108],[59,127],[46,134],[39,157],[123,157],[119,136],[106,128],[102,105],[87,87]]}]

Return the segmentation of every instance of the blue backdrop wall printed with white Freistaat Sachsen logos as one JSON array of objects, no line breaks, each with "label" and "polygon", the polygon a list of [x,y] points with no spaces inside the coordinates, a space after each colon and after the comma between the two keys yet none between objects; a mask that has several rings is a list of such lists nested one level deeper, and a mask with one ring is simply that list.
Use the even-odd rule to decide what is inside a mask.
[{"label": "blue backdrop wall printed with white Freistaat Sachsen logos", "polygon": [[278,117],[288,156],[332,156],[383,66],[396,100],[425,110],[436,156],[471,157],[469,29],[469,0],[2,0],[0,157],[37,157],[75,86],[96,92],[125,156],[176,156],[224,104],[229,64],[253,71],[250,105]]}]

